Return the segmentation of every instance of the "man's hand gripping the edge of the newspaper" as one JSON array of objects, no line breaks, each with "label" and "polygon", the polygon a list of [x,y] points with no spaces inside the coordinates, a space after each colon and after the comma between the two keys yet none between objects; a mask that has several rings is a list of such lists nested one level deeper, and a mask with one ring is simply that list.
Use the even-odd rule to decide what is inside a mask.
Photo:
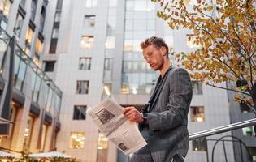
[{"label": "man's hand gripping the edge of the newspaper", "polygon": [[124,116],[127,117],[130,122],[143,122],[142,114],[133,106],[124,108]]}]

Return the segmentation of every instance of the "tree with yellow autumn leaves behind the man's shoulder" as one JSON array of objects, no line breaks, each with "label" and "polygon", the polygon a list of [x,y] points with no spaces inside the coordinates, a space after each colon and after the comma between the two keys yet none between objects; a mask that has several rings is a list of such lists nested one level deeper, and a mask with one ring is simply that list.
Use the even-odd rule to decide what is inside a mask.
[{"label": "tree with yellow autumn leaves behind the man's shoulder", "polygon": [[256,115],[255,0],[151,0],[172,29],[189,28],[199,48],[176,53],[193,79],[236,92],[235,101]]}]

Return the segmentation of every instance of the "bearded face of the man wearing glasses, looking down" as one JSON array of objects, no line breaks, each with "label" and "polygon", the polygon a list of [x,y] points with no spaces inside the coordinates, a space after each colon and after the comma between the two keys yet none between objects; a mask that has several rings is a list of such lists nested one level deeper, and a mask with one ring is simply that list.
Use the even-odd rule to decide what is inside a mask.
[{"label": "bearded face of the man wearing glasses, looking down", "polygon": [[160,70],[163,66],[165,55],[164,47],[157,49],[154,45],[149,45],[143,49],[143,58],[153,70]]}]

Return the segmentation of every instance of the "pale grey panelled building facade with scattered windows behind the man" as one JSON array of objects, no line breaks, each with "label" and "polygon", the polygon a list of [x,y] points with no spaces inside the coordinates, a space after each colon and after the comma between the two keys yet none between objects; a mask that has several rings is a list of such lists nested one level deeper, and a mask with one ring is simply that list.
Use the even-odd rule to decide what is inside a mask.
[{"label": "pale grey panelled building facade with scattered windows behind the man", "polygon": [[[50,3],[54,3],[46,29],[50,44],[45,45],[41,62],[46,74],[63,91],[63,125],[57,149],[82,161],[128,160],[98,133],[86,110],[106,96],[141,109],[158,74],[144,62],[140,42],[149,36],[161,36],[172,51],[189,52],[197,48],[189,40],[193,33],[168,28],[156,17],[158,6],[146,0]],[[193,91],[189,133],[230,123],[227,92],[197,82],[193,82]],[[206,161],[206,151],[214,145],[206,139],[190,142],[187,161]],[[233,160],[232,143],[227,148],[228,158]],[[215,149],[215,156],[223,161],[223,150]]]}]

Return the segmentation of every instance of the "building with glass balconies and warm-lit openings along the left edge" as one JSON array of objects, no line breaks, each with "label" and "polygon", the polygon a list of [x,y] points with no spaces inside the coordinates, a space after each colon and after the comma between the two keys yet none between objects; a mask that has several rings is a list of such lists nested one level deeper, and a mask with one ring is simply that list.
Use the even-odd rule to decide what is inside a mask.
[{"label": "building with glass balconies and warm-lit openings along the left edge", "polygon": [[18,154],[56,147],[62,92],[39,64],[47,7],[47,0],[0,1],[0,113],[7,120],[0,123],[0,147],[4,151]]}]

